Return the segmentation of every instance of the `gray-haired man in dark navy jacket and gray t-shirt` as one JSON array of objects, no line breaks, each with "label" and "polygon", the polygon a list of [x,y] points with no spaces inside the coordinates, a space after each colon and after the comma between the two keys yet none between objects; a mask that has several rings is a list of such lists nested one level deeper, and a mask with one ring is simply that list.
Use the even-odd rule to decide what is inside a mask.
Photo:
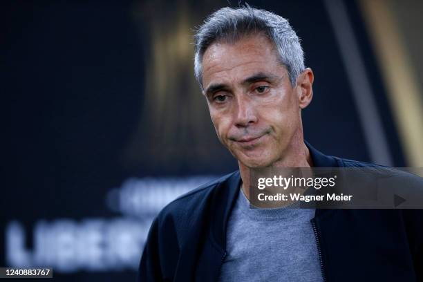
[{"label": "gray-haired man in dark navy jacket and gray t-shirt", "polygon": [[423,279],[418,210],[249,208],[250,169],[371,166],[303,140],[313,73],[288,21],[249,6],[214,12],[196,34],[195,73],[239,171],[160,212],[140,281]]}]

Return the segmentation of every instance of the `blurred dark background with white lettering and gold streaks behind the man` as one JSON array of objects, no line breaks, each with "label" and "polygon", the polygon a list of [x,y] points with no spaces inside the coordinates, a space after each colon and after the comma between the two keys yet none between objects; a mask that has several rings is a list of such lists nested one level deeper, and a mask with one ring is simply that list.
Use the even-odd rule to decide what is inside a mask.
[{"label": "blurred dark background with white lettering and gold streaks behind the man", "polygon": [[[237,169],[196,85],[191,44],[231,3],[1,3],[0,266],[133,281],[162,206]],[[302,39],[315,75],[306,140],[423,167],[422,3],[248,3],[288,18]]]}]

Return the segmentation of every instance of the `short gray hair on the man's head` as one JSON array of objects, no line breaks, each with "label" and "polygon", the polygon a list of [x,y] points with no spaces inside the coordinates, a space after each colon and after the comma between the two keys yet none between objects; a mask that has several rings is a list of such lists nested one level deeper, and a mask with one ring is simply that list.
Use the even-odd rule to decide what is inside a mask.
[{"label": "short gray hair on the man's head", "polygon": [[300,39],[288,20],[266,10],[248,6],[221,8],[209,15],[194,36],[194,73],[203,88],[202,62],[207,48],[215,41],[235,42],[254,33],[263,34],[272,41],[279,53],[281,64],[287,68],[292,87],[304,71],[304,53]]}]

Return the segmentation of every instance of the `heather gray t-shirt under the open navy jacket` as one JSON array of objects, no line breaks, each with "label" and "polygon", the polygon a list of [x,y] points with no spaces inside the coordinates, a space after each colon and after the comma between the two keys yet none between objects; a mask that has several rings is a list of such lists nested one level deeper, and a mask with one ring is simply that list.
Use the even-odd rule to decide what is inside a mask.
[{"label": "heather gray t-shirt under the open navy jacket", "polygon": [[314,209],[250,209],[240,189],[218,281],[323,281]]}]

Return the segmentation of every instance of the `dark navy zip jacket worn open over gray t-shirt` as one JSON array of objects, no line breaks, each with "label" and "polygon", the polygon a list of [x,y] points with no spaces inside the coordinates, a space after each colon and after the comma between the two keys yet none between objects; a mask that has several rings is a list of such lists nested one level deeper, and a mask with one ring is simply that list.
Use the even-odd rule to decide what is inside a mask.
[{"label": "dark navy zip jacket worn open over gray t-shirt", "polygon": [[[308,148],[315,167],[373,165]],[[236,171],[164,207],[151,225],[138,281],[217,281],[240,185]],[[423,281],[422,209],[317,209],[312,225],[326,281]]]}]

